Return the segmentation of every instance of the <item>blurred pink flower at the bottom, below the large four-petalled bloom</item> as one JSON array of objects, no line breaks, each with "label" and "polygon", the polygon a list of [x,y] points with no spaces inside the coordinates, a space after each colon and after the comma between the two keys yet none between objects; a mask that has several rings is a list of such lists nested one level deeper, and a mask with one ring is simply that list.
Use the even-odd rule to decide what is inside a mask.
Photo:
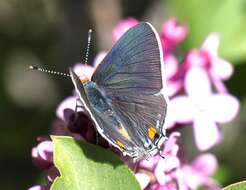
[{"label": "blurred pink flower at the bottom, below the large four-petalled bloom", "polygon": [[218,161],[212,154],[202,154],[191,164],[185,164],[181,168],[183,183],[190,189],[200,186],[206,189],[220,189],[218,184],[210,178],[218,167]]}]

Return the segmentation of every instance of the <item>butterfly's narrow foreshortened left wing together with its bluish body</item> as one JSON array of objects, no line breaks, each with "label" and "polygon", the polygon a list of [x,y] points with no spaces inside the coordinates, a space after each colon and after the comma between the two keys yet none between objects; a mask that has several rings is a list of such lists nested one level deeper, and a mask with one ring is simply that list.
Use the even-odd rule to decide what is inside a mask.
[{"label": "butterfly's narrow foreshortened left wing together with its bluish body", "polygon": [[131,157],[138,157],[137,152],[139,151],[136,149],[141,147],[140,141],[137,138],[130,138],[132,133],[129,131],[131,135],[128,134],[106,98],[97,90],[93,82],[83,84],[72,69],[69,72],[76,92],[100,135],[123,153]]}]

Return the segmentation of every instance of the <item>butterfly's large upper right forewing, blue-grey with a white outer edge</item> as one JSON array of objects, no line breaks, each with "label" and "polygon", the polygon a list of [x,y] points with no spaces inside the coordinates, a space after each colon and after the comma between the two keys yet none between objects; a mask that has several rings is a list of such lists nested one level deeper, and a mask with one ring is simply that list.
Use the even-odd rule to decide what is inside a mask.
[{"label": "butterfly's large upper right forewing, blue-grey with a white outer edge", "polygon": [[129,89],[154,94],[162,89],[161,45],[149,23],[128,30],[114,45],[92,76],[106,89],[128,93]]}]

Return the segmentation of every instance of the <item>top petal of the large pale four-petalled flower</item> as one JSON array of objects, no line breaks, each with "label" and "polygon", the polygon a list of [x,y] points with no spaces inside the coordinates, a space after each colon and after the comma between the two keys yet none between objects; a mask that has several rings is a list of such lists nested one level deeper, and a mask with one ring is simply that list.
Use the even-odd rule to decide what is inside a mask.
[{"label": "top petal of the large pale four-petalled flower", "polygon": [[192,67],[185,76],[185,90],[196,102],[202,101],[211,94],[211,83],[206,70]]}]

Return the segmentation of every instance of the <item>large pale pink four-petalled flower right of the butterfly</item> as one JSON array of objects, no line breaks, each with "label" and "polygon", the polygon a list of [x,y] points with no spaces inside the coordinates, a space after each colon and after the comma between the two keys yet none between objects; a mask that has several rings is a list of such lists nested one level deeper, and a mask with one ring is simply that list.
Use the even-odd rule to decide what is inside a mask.
[{"label": "large pale pink four-petalled flower right of the butterfly", "polygon": [[185,76],[187,95],[170,101],[169,119],[178,123],[193,122],[196,145],[207,150],[221,139],[218,124],[233,120],[239,110],[238,100],[227,93],[212,93],[205,69],[194,67]]}]

